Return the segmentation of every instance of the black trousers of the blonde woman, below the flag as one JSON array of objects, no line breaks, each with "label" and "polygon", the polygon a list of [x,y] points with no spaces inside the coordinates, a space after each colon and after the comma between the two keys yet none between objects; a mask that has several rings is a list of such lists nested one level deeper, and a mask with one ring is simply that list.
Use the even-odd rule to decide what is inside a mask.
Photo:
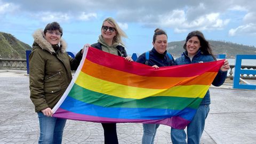
[{"label": "black trousers of the blonde woman, below the flag", "polygon": [[116,123],[101,123],[104,130],[105,144],[118,144]]}]

